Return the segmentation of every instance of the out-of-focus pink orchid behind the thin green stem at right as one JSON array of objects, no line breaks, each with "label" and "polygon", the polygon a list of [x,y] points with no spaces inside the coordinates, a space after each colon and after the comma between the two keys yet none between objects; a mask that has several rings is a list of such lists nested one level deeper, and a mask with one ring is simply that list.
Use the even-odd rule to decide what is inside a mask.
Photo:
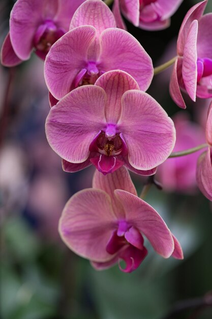
[{"label": "out-of-focus pink orchid behind the thin green stem at right", "polygon": [[[204,143],[204,132],[200,125],[190,121],[185,111],[173,118],[176,129],[176,143],[173,152],[180,152]],[[197,189],[196,165],[201,151],[174,158],[168,158],[158,167],[157,174],[163,189],[167,192],[193,194]]]}]

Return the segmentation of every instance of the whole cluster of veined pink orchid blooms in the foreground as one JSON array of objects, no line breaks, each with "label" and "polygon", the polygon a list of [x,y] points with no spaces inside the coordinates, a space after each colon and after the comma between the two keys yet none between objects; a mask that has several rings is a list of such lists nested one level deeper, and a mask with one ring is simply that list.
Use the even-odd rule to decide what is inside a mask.
[{"label": "whole cluster of veined pink orchid blooms in the foreground", "polygon": [[[154,75],[152,59],[126,31],[121,16],[122,12],[140,28],[161,30],[168,27],[181,2],[115,0],[112,13],[102,0],[17,0],[11,12],[2,64],[15,66],[29,59],[32,51],[45,60],[49,145],[62,158],[65,171],[90,165],[97,169],[93,188],[78,192],[66,204],[59,233],[71,250],[99,270],[115,263],[123,272],[137,269],[147,255],[144,237],[164,258],[183,258],[179,242],[158,212],[137,196],[128,172],[154,175],[169,156],[182,154],[178,154],[180,142],[175,145],[174,122],[145,92]],[[196,96],[212,97],[212,14],[203,15],[206,4],[207,0],[191,8],[179,31],[170,94],[184,109],[180,90],[194,101]],[[175,120],[175,125],[181,145],[202,143],[200,136],[193,138],[190,127],[193,139],[187,144],[187,124]],[[212,200],[212,104],[206,142],[200,147],[207,151],[198,160],[197,183]],[[172,164],[180,174],[189,166],[193,173],[196,161],[195,155],[186,166],[179,161]],[[170,178],[174,168],[166,167]],[[174,184],[182,180],[176,178]],[[188,185],[193,180],[180,189]],[[125,261],[124,268],[120,260]]]}]

